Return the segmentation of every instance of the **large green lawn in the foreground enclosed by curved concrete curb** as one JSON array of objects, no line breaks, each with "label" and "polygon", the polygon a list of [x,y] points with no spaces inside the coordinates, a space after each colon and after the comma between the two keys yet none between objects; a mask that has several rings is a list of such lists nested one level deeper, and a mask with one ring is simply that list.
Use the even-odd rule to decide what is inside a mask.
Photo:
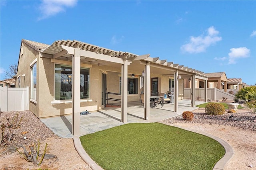
[{"label": "large green lawn in the foreground enclosed by curved concrete curb", "polygon": [[106,170],[212,170],[225,154],[209,137],[161,123],[128,123],[80,140]]}]

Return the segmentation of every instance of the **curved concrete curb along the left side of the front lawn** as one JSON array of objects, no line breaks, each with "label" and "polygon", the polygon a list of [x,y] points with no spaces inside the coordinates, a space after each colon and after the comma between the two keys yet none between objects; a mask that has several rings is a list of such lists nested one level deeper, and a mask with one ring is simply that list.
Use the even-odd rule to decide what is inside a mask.
[{"label": "curved concrete curb along the left side of the front lawn", "polygon": [[101,168],[98,164],[96,164],[94,160],[92,160],[92,158],[90,158],[90,156],[86,153],[78,136],[73,137],[73,141],[74,141],[74,147],[78,152],[79,156],[82,158],[82,160],[84,160],[84,162],[88,166],[90,166],[92,170],[103,170],[103,168]]}]

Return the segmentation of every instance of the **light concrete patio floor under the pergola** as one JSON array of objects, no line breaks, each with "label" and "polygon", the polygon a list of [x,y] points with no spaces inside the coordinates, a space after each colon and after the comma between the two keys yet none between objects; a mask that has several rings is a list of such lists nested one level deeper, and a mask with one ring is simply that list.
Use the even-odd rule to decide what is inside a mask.
[{"label": "light concrete patio floor under the pergola", "polygon": [[[161,108],[157,105],[150,108],[150,119],[144,120],[144,107],[140,102],[128,102],[128,122],[127,123],[150,123],[161,121],[170,117],[182,114],[183,111],[192,111],[198,107],[190,107],[190,100],[178,101],[178,113],[174,112],[174,104],[165,103]],[[204,102],[196,101],[195,105]],[[56,135],[62,138],[73,138],[72,135],[72,115],[50,117],[40,119]],[[120,107],[105,107],[99,111],[90,112],[88,115],[80,115],[80,136],[111,127],[123,125],[121,122]]]}]

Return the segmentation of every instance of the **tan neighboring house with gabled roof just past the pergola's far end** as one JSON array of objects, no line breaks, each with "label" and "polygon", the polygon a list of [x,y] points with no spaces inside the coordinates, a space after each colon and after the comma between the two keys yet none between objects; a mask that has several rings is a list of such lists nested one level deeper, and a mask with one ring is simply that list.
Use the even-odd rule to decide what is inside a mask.
[{"label": "tan neighboring house with gabled roof just past the pergola's far end", "polygon": [[[225,72],[204,73],[204,75],[208,76],[207,88],[218,88],[227,92],[228,78]],[[199,80],[199,86],[199,88],[204,88],[204,82]]]}]

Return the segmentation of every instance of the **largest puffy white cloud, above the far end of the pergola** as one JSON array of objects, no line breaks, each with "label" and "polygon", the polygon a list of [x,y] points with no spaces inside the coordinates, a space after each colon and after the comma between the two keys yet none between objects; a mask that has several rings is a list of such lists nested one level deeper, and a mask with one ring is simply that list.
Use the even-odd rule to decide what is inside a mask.
[{"label": "largest puffy white cloud, above the far end of the pergola", "polygon": [[219,31],[214,26],[207,29],[207,35],[199,35],[198,37],[191,36],[190,42],[182,45],[180,49],[183,52],[188,53],[202,53],[206,51],[206,48],[210,45],[214,45],[216,42],[221,41],[222,37],[218,37]]}]

